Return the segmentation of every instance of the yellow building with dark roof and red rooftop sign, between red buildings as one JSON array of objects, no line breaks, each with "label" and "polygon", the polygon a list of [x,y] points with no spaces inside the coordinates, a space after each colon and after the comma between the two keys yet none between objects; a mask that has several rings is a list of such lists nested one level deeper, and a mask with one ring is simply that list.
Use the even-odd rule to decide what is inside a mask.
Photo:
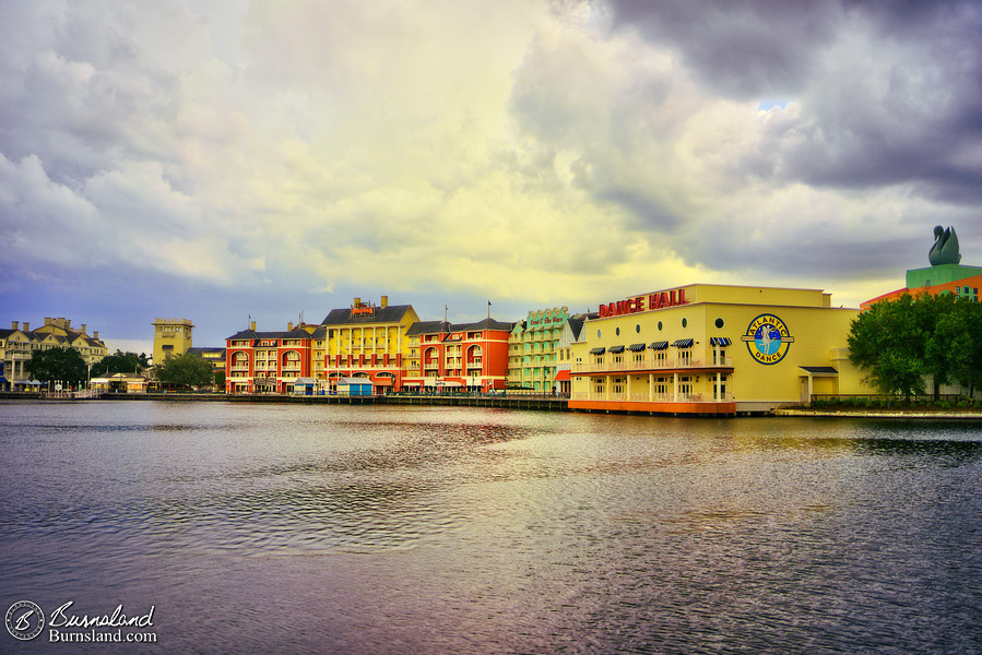
[{"label": "yellow building with dark roof and red rooftop sign, between red buildings", "polygon": [[377,306],[355,298],[351,307],[331,310],[321,322],[323,368],[315,372],[326,377],[329,392],[343,378],[370,378],[376,394],[399,391],[410,370],[406,331],[418,320],[411,305],[390,306],[388,296]]}]

